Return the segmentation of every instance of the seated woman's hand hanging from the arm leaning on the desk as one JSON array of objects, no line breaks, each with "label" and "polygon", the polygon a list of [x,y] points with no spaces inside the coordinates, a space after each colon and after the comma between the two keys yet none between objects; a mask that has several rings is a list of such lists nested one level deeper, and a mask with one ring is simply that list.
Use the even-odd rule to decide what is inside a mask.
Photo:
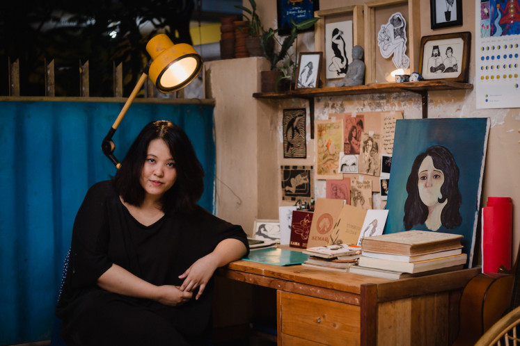
[{"label": "seated woman's hand hanging from the arm leaning on the desk", "polygon": [[198,299],[203,294],[207,282],[210,281],[214,271],[216,270],[218,261],[214,258],[214,254],[208,254],[203,258],[199,258],[192,264],[182,275],[180,279],[184,282],[180,286],[180,290],[184,292],[193,292],[198,288],[198,293],[195,299]]}]

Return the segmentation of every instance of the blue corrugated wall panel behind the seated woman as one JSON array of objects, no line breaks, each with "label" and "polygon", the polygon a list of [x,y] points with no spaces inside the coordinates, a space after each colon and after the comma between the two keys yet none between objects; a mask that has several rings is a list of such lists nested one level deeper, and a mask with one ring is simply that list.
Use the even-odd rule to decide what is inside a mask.
[{"label": "blue corrugated wall panel behind the seated woman", "polygon": [[[0,345],[51,336],[63,259],[87,189],[116,168],[100,149],[123,104],[0,102]],[[214,212],[213,105],[132,104],[113,137],[123,160],[152,120],[171,120],[205,170],[200,206]]]}]

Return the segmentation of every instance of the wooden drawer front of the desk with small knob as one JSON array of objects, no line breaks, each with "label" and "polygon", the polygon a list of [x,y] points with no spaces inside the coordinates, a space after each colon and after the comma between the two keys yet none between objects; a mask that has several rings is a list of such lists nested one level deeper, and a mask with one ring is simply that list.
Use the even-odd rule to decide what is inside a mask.
[{"label": "wooden drawer front of the desk with small knob", "polygon": [[278,291],[278,331],[324,345],[359,345],[360,308]]}]

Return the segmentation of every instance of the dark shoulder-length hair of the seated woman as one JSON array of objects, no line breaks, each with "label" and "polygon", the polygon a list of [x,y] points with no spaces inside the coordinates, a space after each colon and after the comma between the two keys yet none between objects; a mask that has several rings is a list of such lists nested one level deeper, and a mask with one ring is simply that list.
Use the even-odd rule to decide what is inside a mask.
[{"label": "dark shoulder-length hair of the seated woman", "polygon": [[188,136],[173,122],[157,120],[144,126],[113,178],[116,191],[129,204],[143,204],[145,190],[140,183],[141,171],[148,154],[148,145],[157,138],[168,145],[177,169],[177,180],[163,196],[162,211],[189,213],[203,194],[204,170]]}]

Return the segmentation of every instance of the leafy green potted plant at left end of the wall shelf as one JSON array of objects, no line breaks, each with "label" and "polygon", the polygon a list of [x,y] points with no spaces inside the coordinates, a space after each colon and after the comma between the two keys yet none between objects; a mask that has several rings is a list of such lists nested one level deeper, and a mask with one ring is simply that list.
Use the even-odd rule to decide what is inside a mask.
[{"label": "leafy green potted plant at left end of the wall shelf", "polygon": [[[280,42],[280,40],[276,38],[275,34],[278,32],[278,29],[274,30],[273,28],[269,28],[269,31],[262,33],[260,42],[264,50],[264,56],[271,64],[270,70],[261,72],[262,92],[278,92],[278,84],[282,80],[286,79],[290,81],[292,79],[296,64],[289,54],[289,49],[292,47],[294,40],[297,40],[298,31],[310,28],[319,19],[320,18],[309,18],[297,23],[291,18],[291,31],[283,42]],[[274,41],[278,42],[280,46],[279,49],[275,47]],[[284,59],[286,59],[285,63],[281,64]]]}]

